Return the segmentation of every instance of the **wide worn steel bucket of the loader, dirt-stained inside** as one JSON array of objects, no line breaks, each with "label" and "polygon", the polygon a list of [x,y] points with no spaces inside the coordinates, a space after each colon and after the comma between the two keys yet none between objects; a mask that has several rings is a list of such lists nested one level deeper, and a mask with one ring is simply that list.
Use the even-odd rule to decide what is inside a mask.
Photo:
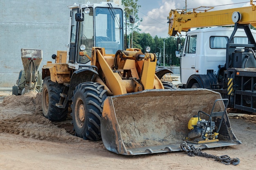
[{"label": "wide worn steel bucket of the loader, dirt-stained inside", "polygon": [[[202,110],[210,113],[218,92],[207,89],[145,90],[108,97],[101,117],[101,137],[107,150],[122,155],[180,151],[188,134],[188,122]],[[222,105],[223,104],[223,105]],[[220,102],[216,111],[225,109]],[[204,117],[202,117],[204,118]],[[231,130],[227,112],[216,143],[194,144],[215,148],[241,144]]]}]

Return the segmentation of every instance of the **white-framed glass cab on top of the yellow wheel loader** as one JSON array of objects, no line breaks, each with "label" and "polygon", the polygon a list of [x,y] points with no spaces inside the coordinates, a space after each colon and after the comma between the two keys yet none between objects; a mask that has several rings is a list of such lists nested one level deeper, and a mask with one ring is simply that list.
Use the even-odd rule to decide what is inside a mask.
[{"label": "white-framed glass cab on top of the yellow wheel loader", "polygon": [[124,50],[123,9],[111,2],[70,6],[70,37],[67,63],[70,68],[90,65],[92,47],[106,54]]}]

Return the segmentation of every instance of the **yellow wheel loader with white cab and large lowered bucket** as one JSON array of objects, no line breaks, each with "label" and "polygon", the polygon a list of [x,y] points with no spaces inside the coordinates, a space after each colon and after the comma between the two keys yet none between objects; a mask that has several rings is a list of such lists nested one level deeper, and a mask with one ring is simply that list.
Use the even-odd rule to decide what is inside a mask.
[{"label": "yellow wheel loader with white cab and large lowered bucket", "polygon": [[[164,89],[155,74],[156,55],[148,47],[145,53],[124,50],[121,4],[87,3],[69,8],[67,51],[57,51],[52,55],[55,62],[43,66],[43,115],[52,121],[65,120],[71,104],[76,136],[102,139],[117,154],[181,150],[191,117],[200,110],[210,113],[220,94],[207,89]],[[211,119],[216,128],[212,132],[219,128],[219,141],[197,147],[240,144],[224,103],[218,102],[215,109],[223,113]],[[209,117],[200,115],[200,119]]]}]

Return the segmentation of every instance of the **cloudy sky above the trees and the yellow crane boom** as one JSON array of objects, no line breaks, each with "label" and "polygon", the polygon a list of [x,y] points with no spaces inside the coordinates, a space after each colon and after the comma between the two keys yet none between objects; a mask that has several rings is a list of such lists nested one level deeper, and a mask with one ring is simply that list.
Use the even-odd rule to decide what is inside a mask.
[{"label": "cloudy sky above the trees and the yellow crane boom", "polygon": [[138,15],[139,18],[143,18],[139,26],[141,33],[150,33],[152,37],[157,35],[161,38],[168,38],[167,17],[169,12],[171,9],[184,9],[185,2],[187,9],[218,6],[210,11],[250,6],[249,0],[139,0],[138,4],[141,7]]}]

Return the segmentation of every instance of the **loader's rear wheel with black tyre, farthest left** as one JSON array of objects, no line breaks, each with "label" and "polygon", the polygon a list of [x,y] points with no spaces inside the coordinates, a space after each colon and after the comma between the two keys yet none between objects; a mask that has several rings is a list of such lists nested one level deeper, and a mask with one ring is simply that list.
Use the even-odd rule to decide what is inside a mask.
[{"label": "loader's rear wheel with black tyre, farthest left", "polygon": [[45,77],[42,90],[43,115],[51,121],[63,121],[67,118],[67,107],[58,108],[55,104],[59,102],[64,88],[63,84],[51,81],[50,77]]}]

